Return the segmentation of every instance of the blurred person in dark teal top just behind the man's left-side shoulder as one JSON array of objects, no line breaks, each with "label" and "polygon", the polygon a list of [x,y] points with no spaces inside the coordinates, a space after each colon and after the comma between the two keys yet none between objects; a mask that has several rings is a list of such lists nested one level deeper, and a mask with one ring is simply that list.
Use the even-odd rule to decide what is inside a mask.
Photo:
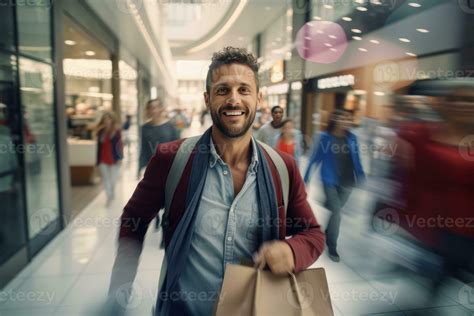
[{"label": "blurred person in dark teal top just behind the man's left-side shoulder", "polygon": [[155,154],[156,146],[179,138],[179,132],[174,123],[168,119],[166,107],[160,99],[153,99],[145,106],[147,121],[141,128],[140,158],[138,162],[138,179]]}]

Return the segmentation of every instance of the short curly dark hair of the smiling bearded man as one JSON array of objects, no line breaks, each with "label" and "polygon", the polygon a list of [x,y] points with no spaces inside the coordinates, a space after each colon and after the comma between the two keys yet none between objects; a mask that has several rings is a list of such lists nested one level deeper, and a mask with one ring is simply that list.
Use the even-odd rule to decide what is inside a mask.
[{"label": "short curly dark hair of the smiling bearded man", "polygon": [[255,82],[257,83],[258,92],[259,83],[257,59],[252,53],[248,52],[245,48],[236,48],[231,46],[224,47],[222,50],[212,55],[212,62],[209,65],[209,70],[207,71],[206,77],[206,92],[208,94],[210,94],[211,92],[213,72],[222,65],[230,64],[241,64],[249,66],[255,74]]}]

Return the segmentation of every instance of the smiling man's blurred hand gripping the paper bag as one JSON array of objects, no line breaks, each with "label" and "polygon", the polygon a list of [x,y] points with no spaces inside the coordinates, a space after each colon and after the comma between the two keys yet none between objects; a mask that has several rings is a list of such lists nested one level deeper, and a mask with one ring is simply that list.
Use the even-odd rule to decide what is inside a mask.
[{"label": "smiling man's blurred hand gripping the paper bag", "polygon": [[263,269],[268,264],[274,274],[287,275],[295,270],[295,259],[290,245],[274,240],[264,243],[254,255],[255,266]]}]

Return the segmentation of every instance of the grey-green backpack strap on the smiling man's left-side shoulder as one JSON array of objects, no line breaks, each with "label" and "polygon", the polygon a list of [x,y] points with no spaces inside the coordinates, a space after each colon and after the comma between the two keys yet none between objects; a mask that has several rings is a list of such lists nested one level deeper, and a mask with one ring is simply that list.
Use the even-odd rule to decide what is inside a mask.
[{"label": "grey-green backpack strap on the smiling man's left-side shoulder", "polygon": [[193,152],[196,143],[198,142],[201,136],[194,136],[187,138],[181,146],[179,146],[178,152],[174,157],[173,164],[166,178],[165,186],[165,212],[163,214],[163,223],[168,219],[168,212],[171,207],[171,202],[173,200],[174,191],[178,186],[179,180],[181,180],[181,175],[183,174],[184,168],[188,163],[189,156]]}]

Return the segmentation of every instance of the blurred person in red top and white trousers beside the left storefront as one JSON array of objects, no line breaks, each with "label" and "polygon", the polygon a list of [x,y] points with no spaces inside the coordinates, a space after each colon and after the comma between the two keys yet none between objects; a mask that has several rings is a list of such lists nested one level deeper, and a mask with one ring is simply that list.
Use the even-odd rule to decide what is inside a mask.
[{"label": "blurred person in red top and white trousers beside the left storefront", "polygon": [[105,112],[97,126],[97,165],[99,166],[107,195],[107,205],[115,196],[120,164],[123,158],[122,133],[117,116],[113,112]]}]

